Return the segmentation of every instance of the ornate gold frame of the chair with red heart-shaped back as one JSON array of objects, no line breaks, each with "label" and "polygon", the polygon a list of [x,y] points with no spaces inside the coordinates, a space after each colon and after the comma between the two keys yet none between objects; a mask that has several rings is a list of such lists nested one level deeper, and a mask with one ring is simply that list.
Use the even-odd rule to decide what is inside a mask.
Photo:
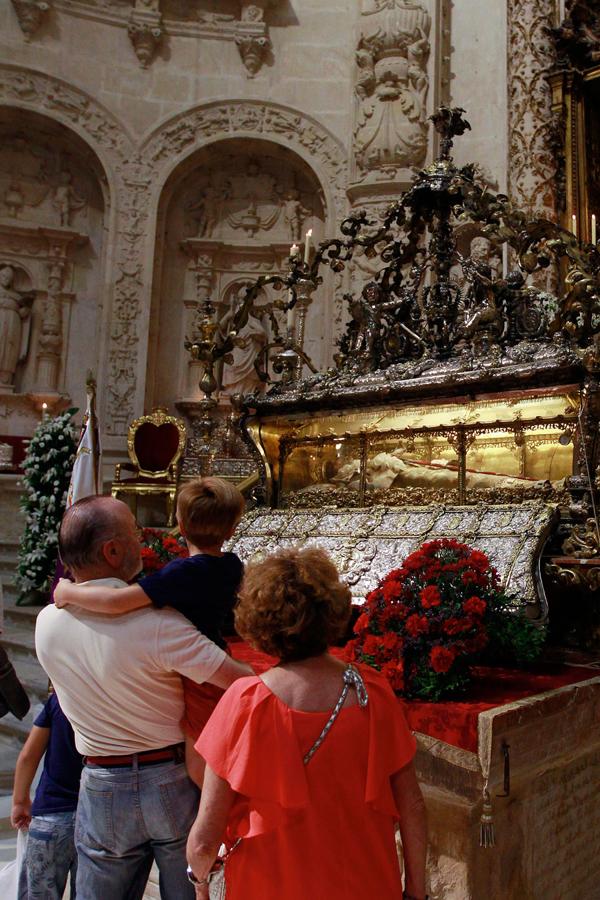
[{"label": "ornate gold frame of the chair with red heart-shaped back", "polygon": [[[166,469],[151,471],[143,469],[135,449],[135,437],[138,429],[142,425],[154,425],[160,428],[161,425],[174,425],[179,432],[179,441],[177,450],[172,456]],[[183,419],[176,416],[170,416],[165,409],[158,407],[152,410],[149,415],[140,416],[134,419],[129,426],[127,432],[127,453],[131,463],[117,463],[115,466],[115,480],[112,483],[111,495],[118,498],[119,495],[129,495],[135,498],[134,515],[137,518],[138,497],[152,495],[166,495],[167,497],[167,525],[172,527],[175,524],[175,499],[177,496],[177,488],[179,485],[179,463],[185,450],[186,428]],[[122,471],[130,471],[134,473],[132,479],[121,480]],[[148,481],[144,481],[148,479]],[[150,480],[152,479],[152,480]],[[157,483],[157,479],[159,480]]]}]

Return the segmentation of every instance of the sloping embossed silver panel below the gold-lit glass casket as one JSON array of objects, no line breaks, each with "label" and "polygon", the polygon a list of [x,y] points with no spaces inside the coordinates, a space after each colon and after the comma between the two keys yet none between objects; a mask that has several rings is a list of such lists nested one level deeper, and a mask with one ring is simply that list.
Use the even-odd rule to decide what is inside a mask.
[{"label": "sloping embossed silver panel below the gold-lit glass casket", "polygon": [[545,614],[537,561],[554,516],[555,507],[535,502],[306,512],[258,509],[244,516],[229,549],[248,562],[281,547],[322,547],[350,585],[354,600],[362,602],[424,541],[451,537],[487,553],[506,589]]}]

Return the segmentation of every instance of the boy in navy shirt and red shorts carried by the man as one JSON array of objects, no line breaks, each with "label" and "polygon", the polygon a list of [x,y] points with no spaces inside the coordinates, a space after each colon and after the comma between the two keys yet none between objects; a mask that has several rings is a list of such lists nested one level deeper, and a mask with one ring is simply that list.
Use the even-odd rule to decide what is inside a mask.
[{"label": "boy in navy shirt and red shorts carried by the man", "polygon": [[[170,606],[192,622],[198,631],[226,649],[223,626],[231,615],[242,580],[243,564],[235,553],[223,552],[244,512],[238,489],[221,478],[196,478],[187,482],[177,497],[177,524],[190,555],[174,559],[164,569],[127,588],[75,585],[61,579],[54,591],[58,607],[72,604],[92,612],[120,615],[152,604]],[[223,694],[211,684],[183,678],[186,766],[199,787],[204,760],[194,743]]]}]

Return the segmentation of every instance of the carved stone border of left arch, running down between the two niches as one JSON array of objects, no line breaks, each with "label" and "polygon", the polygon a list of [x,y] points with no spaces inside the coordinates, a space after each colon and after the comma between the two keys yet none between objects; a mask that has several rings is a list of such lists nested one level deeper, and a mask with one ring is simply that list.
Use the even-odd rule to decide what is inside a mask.
[{"label": "carved stone border of left arch, running down between the two niches", "polygon": [[108,434],[120,435],[143,404],[140,322],[146,290],[143,253],[151,173],[135,153],[123,124],[84,91],[23,67],[0,65],[0,105],[43,113],[77,134],[97,156],[110,197],[107,246],[112,296],[106,297],[100,341],[105,346],[98,386]]}]

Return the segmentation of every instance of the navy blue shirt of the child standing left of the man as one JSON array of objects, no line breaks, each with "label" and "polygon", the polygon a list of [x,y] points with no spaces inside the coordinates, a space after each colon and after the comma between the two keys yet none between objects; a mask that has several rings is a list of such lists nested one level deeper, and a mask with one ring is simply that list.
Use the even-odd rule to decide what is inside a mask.
[{"label": "navy blue shirt of the child standing left of the man", "polygon": [[38,728],[49,728],[50,738],[31,815],[75,812],[83,758],[75,749],[73,729],[58,704],[56,694],[50,694],[33,724]]}]

